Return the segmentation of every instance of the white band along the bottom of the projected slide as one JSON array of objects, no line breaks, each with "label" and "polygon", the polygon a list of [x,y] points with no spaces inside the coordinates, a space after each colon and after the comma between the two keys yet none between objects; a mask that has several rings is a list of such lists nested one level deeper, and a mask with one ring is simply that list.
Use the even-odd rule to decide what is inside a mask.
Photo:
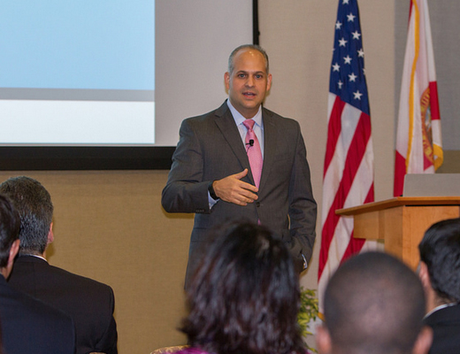
[{"label": "white band along the bottom of the projected slide", "polygon": [[0,110],[3,144],[150,144],[155,136],[153,102],[7,100]]}]

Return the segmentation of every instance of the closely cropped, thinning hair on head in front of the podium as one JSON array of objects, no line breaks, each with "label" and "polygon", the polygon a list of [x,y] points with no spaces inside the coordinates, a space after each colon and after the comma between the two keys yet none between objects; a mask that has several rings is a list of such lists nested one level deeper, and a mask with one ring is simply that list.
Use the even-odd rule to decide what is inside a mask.
[{"label": "closely cropped, thinning hair on head in front of the podium", "polygon": [[343,353],[409,353],[422,328],[425,296],[418,276],[383,252],[349,258],[329,281],[325,325]]}]

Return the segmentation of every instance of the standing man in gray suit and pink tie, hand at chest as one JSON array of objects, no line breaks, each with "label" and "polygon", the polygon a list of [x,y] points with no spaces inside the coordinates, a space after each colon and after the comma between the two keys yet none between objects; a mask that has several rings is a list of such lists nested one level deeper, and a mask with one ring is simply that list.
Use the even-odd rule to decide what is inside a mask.
[{"label": "standing man in gray suit and pink tie, hand at chest", "polygon": [[[180,127],[162,204],[166,212],[196,213],[186,287],[212,241],[210,229],[227,219],[270,227],[288,244],[299,272],[311,259],[317,205],[305,144],[294,119],[262,107],[272,85],[268,66],[262,48],[236,48],[224,76],[228,100],[215,111],[185,119]],[[247,140],[246,120],[255,122],[254,139]],[[255,143],[263,158],[259,181],[247,154]]]}]

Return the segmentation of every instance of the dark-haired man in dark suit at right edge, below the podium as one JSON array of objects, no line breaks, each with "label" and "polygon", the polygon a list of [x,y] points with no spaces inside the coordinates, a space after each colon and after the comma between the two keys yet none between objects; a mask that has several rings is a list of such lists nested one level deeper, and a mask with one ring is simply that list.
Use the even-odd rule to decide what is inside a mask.
[{"label": "dark-haired man in dark suit at right edge, below the podium", "polygon": [[426,294],[430,354],[460,353],[460,219],[436,222],[418,244],[418,276]]}]

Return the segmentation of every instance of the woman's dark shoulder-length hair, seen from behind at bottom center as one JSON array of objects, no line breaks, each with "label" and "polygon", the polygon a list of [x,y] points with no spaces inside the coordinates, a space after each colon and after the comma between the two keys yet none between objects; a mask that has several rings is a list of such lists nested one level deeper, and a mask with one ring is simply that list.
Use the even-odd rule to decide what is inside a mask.
[{"label": "woman's dark shoulder-length hair, seen from behind at bottom center", "polygon": [[284,243],[250,223],[215,232],[188,287],[181,330],[190,345],[219,354],[303,353],[298,274]]}]

